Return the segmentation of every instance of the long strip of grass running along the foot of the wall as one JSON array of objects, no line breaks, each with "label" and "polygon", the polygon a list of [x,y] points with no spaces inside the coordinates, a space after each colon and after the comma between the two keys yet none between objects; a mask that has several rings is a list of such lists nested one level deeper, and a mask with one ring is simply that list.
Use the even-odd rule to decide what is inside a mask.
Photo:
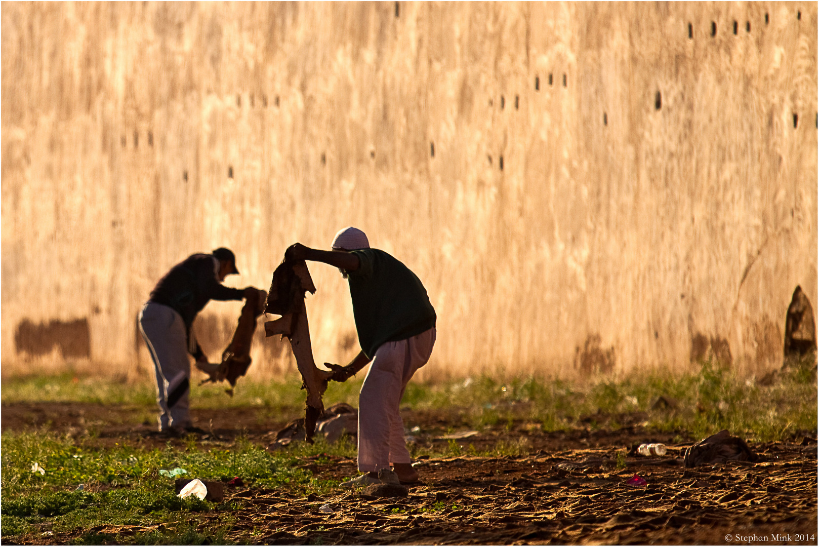
[{"label": "long strip of grass running along the foot of the wall", "polygon": [[[330,382],[325,403],[358,406],[364,375],[360,376],[342,384]],[[304,405],[305,392],[299,389],[301,381],[296,376],[267,382],[242,379],[232,398],[224,393],[226,384],[196,384],[192,386],[193,408],[255,406],[265,409],[260,413],[263,418],[301,414]],[[115,380],[71,374],[11,378],[2,382],[2,400],[133,403],[153,408],[154,387],[149,381],[126,387]],[[457,408],[479,430],[505,424],[514,431],[519,422],[540,423],[546,432],[577,426],[616,429],[637,423],[649,431],[673,432],[686,439],[728,429],[749,440],[764,441],[816,431],[816,388],[814,355],[789,363],[771,385],[759,385],[753,378],[704,362],[697,372],[660,368],[618,378],[601,376],[585,384],[536,376],[410,382],[401,406],[419,411]],[[676,407],[653,408],[660,396],[675,400]]]}]

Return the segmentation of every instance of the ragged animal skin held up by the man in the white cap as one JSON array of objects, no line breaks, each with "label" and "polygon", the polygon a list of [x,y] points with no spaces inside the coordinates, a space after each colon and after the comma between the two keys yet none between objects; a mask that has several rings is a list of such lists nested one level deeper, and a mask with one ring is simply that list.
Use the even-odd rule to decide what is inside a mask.
[{"label": "ragged animal skin held up by the man in the white cap", "polygon": [[307,390],[305,407],[306,438],[312,442],[316,420],[324,413],[322,395],[327,390],[327,382],[332,371],[319,370],[313,360],[313,348],[310,344],[310,326],[307,323],[305,293],[315,293],[315,285],[303,260],[288,259],[278,265],[270,282],[265,312],[281,315],[274,321],[265,322],[265,336],[282,335],[290,341],[296,367]]}]

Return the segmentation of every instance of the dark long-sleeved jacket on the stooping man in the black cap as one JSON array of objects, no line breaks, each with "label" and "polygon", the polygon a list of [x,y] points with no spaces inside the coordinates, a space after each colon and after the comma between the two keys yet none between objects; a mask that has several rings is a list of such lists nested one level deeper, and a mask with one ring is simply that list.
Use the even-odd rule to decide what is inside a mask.
[{"label": "dark long-sleeved jacket on the stooping man in the black cap", "polygon": [[[192,254],[179,262],[156,283],[151,291],[148,302],[164,304],[174,308],[185,322],[185,329],[190,340],[191,326],[197,313],[205,308],[210,300],[242,300],[244,292],[241,289],[225,287],[216,278],[215,258],[211,254]],[[189,344],[189,346],[192,344]],[[191,353],[194,357],[201,355],[201,349],[196,348]]]}]

